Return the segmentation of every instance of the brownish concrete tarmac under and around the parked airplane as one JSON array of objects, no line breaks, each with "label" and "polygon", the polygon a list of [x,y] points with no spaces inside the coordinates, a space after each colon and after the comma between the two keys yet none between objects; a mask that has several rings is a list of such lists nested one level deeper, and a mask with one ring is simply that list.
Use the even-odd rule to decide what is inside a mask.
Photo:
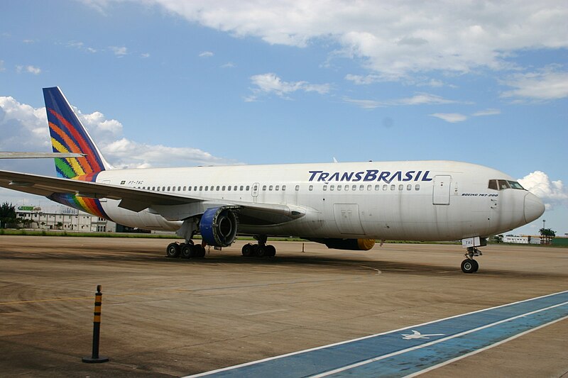
[{"label": "brownish concrete tarmac under and around the parked airplane", "polygon": [[[368,252],[272,243],[274,258],[211,248],[165,257],[167,239],[0,236],[0,375],[179,377],[413,326],[568,289],[568,249],[460,245]],[[100,355],[91,354],[102,285]],[[424,377],[567,377],[559,321]]]}]

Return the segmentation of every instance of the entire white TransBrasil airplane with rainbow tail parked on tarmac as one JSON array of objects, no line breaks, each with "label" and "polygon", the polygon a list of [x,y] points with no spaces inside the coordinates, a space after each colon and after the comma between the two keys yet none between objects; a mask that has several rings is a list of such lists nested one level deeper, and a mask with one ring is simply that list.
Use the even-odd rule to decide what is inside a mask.
[{"label": "entire white TransBrasil airplane with rainbow tail parked on tarmac", "polygon": [[[46,196],[116,223],[175,231],[168,257],[204,257],[253,235],[245,257],[275,255],[268,237],[370,250],[376,240],[461,240],[474,273],[490,235],[539,218],[542,201],[496,169],[446,160],[113,169],[59,87],[43,89],[58,177],[0,171],[0,187]],[[196,234],[202,243],[192,240]]]}]

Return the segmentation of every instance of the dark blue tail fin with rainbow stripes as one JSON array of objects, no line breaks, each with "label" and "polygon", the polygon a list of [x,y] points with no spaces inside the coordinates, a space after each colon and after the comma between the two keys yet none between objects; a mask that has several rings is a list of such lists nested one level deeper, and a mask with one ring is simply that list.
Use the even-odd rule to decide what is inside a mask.
[{"label": "dark blue tail fin with rainbow stripes", "polygon": [[91,181],[99,172],[110,169],[99,148],[71,108],[59,87],[44,88],[43,99],[48,113],[49,133],[53,152],[75,152],[84,157],[56,158],[59,177],[81,177]]}]

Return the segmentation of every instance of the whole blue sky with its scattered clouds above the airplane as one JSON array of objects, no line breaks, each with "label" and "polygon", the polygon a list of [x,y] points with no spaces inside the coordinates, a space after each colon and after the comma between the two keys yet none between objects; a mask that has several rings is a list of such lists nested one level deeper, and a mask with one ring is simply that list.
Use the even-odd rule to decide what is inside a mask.
[{"label": "whole blue sky with its scattered clouds above the airplane", "polygon": [[[568,233],[565,1],[0,10],[0,150],[50,150],[41,88],[59,86],[116,167],[474,162],[523,179],[547,227]],[[51,162],[0,169],[53,174]]]}]

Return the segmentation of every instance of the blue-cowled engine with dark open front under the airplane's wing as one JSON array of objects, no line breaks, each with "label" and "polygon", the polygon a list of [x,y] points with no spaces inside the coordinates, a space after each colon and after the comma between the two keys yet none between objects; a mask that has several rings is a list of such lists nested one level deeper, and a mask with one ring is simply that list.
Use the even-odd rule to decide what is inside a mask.
[{"label": "blue-cowled engine with dark open front under the airplane's wing", "polygon": [[238,221],[233,210],[236,206],[207,209],[200,221],[200,233],[208,245],[229,247],[236,238]]}]

